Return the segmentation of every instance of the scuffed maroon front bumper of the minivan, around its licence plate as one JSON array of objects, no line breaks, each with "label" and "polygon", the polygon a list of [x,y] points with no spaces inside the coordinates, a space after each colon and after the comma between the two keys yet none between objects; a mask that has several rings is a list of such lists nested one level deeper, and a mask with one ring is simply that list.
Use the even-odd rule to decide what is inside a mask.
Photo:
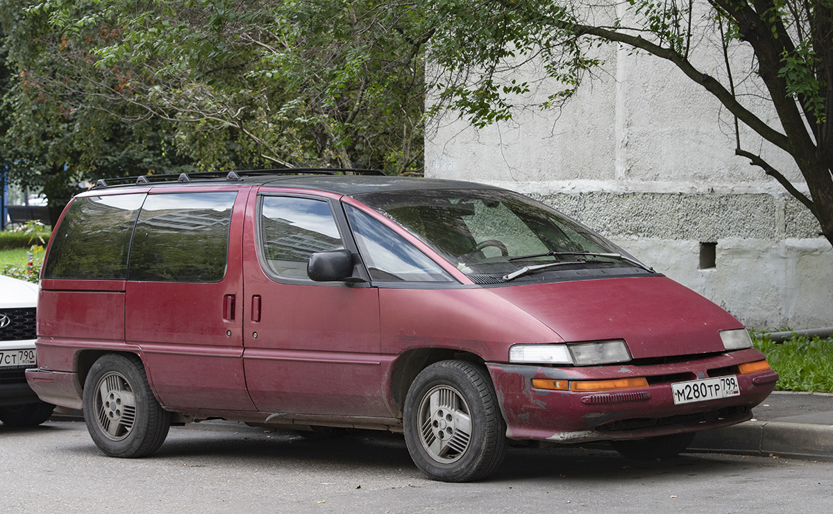
[{"label": "scuffed maroon front bumper of the minivan, around its licence plate", "polygon": [[[744,422],[769,396],[778,373],[739,374],[738,364],[763,360],[756,349],[692,357],[677,363],[619,364],[586,368],[486,363],[495,384],[506,437],[516,440],[586,442],[655,437]],[[736,374],[741,394],[675,405],[671,383]],[[610,392],[536,389],[533,378],[609,380],[645,377],[648,387]]]}]

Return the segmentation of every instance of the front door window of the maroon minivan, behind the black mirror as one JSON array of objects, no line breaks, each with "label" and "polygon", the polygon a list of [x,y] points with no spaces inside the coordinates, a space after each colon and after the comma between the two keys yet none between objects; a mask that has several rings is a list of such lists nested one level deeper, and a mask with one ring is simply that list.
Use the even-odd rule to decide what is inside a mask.
[{"label": "front door window of the maroon minivan, behind the black mirror", "polygon": [[325,200],[264,196],[260,223],[267,268],[281,277],[307,279],[310,255],[344,248]]}]

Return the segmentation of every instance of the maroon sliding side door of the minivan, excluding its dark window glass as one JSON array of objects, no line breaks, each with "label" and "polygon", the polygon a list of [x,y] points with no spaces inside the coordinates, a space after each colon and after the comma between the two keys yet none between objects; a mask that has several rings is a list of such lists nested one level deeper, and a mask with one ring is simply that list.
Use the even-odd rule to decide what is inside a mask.
[{"label": "maroon sliding side door of the minivan, excluding its dark window glass", "polygon": [[[190,190],[165,190],[183,191]],[[246,192],[238,193],[220,282],[127,282],[127,343],[142,348],[157,398],[168,408],[254,409],[243,375],[240,317],[234,321],[224,313],[227,297],[242,297],[241,240],[235,235],[241,233],[246,202]]]}]

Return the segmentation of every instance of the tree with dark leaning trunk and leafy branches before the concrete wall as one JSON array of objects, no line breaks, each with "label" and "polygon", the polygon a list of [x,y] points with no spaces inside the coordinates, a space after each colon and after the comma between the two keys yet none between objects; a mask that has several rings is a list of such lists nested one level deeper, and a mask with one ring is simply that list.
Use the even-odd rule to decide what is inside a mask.
[{"label": "tree with dark leaning trunk and leafy branches before the concrete wall", "polygon": [[[558,108],[614,44],[671,62],[736,119],[736,154],[771,175],[816,216],[833,244],[833,0],[436,0],[431,57],[438,110],[474,125],[511,116],[531,82]],[[432,13],[432,14],[431,14]],[[531,71],[530,71],[531,70]],[[546,82],[545,82],[546,81]],[[739,124],[757,138],[741,140]],[[810,195],[759,149],[787,152]],[[755,151],[751,151],[755,149]]]}]

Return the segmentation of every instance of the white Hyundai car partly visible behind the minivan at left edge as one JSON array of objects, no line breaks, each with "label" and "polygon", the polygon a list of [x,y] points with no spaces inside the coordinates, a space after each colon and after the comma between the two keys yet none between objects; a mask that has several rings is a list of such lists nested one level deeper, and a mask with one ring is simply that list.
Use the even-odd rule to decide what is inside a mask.
[{"label": "white Hyundai car partly visible behind the minivan at left edge", "polygon": [[36,365],[37,284],[0,275],[0,421],[14,427],[39,425],[52,415],[26,383]]}]

